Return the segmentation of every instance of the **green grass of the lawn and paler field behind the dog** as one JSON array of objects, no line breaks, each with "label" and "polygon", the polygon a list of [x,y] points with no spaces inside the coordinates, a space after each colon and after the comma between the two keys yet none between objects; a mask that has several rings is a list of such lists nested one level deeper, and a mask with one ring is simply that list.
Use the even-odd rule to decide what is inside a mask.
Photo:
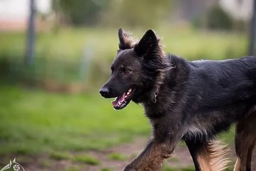
[{"label": "green grass of the lawn and paler field behind the dog", "polygon": [[[245,55],[247,50],[246,35],[171,27],[156,30],[164,37],[167,52],[187,59],[235,58]],[[133,32],[140,37],[144,30]],[[0,59],[21,59],[25,52],[25,38],[22,33],[0,33]],[[87,81],[92,87],[90,92],[68,95],[15,85],[0,86],[0,159],[13,154],[25,156],[23,161],[28,161],[27,156],[33,158],[43,154],[48,158],[40,165],[48,166],[48,159],[73,160],[76,152],[102,151],[150,135],[150,126],[141,106],[131,103],[127,108],[115,111],[111,100],[101,98],[98,93],[109,75],[109,64],[118,47],[117,30],[66,28],[57,34],[40,33],[37,34],[36,57],[47,59],[55,68],[52,72],[57,72],[59,63],[55,63],[55,59],[79,63],[85,47],[93,51],[91,77]],[[42,68],[41,72],[47,70],[47,67]],[[62,68],[58,72],[63,72],[61,78],[67,79],[70,71]],[[231,129],[219,138],[232,144],[233,135],[234,130]],[[101,160],[110,159],[118,162],[128,160],[122,154],[111,153],[103,159],[78,155],[73,162],[99,165]],[[0,166],[4,164],[0,162]],[[188,168],[184,171],[186,169],[189,171]],[[80,169],[74,167],[69,170]],[[165,171],[172,170],[165,167]],[[104,171],[109,170],[105,168]]]}]

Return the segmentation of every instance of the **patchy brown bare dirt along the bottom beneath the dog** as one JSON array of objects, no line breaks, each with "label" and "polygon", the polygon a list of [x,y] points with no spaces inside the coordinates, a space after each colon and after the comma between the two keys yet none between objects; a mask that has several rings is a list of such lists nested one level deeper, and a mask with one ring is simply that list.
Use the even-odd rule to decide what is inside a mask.
[{"label": "patchy brown bare dirt along the bottom beneath the dog", "polygon": [[[122,144],[104,151],[90,151],[90,152],[73,152],[74,155],[91,155],[101,161],[99,165],[88,165],[81,162],[74,162],[72,160],[53,160],[48,155],[41,156],[16,156],[17,162],[19,162],[26,171],[101,171],[102,168],[109,168],[111,171],[122,171],[123,168],[134,159],[145,147],[146,139],[137,138],[134,143]],[[232,164],[235,160],[234,148],[231,147],[231,153],[229,156],[232,159]],[[120,153],[126,156],[123,161],[112,160],[109,157],[110,153]],[[11,156],[1,157],[4,161],[0,161],[0,165],[3,166],[9,162]],[[253,160],[256,159],[256,153],[254,153]],[[252,168],[252,171],[256,171],[256,166]],[[232,165],[231,164],[231,165]],[[192,166],[192,158],[185,146],[177,146],[173,156],[166,161],[166,165],[180,168]]]}]

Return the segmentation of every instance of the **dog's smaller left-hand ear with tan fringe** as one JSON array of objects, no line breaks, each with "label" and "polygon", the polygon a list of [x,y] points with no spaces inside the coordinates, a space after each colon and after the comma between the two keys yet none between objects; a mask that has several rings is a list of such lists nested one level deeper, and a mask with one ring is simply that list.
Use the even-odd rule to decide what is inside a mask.
[{"label": "dog's smaller left-hand ear with tan fringe", "polygon": [[136,44],[137,40],[130,36],[130,33],[124,31],[121,27],[118,29],[119,49],[131,49]]}]

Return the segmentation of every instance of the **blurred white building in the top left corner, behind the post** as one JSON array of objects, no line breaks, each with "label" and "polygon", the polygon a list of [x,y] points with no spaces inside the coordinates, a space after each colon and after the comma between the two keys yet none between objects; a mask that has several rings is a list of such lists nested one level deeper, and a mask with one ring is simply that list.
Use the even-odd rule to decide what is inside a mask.
[{"label": "blurred white building in the top left corner, behind the post", "polygon": [[[35,0],[36,9],[50,13],[52,0]],[[30,0],[0,0],[0,30],[25,30],[29,16]],[[37,21],[37,23],[40,21]]]}]

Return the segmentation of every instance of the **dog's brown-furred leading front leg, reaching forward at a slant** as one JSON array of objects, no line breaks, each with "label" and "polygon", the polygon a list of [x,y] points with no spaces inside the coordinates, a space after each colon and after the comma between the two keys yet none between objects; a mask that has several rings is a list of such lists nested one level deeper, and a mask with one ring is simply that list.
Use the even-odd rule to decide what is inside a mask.
[{"label": "dog's brown-furred leading front leg, reaching forward at a slant", "polygon": [[171,156],[180,138],[166,136],[165,141],[159,142],[157,137],[151,140],[143,152],[137,156],[124,171],[161,171],[164,160]]}]

